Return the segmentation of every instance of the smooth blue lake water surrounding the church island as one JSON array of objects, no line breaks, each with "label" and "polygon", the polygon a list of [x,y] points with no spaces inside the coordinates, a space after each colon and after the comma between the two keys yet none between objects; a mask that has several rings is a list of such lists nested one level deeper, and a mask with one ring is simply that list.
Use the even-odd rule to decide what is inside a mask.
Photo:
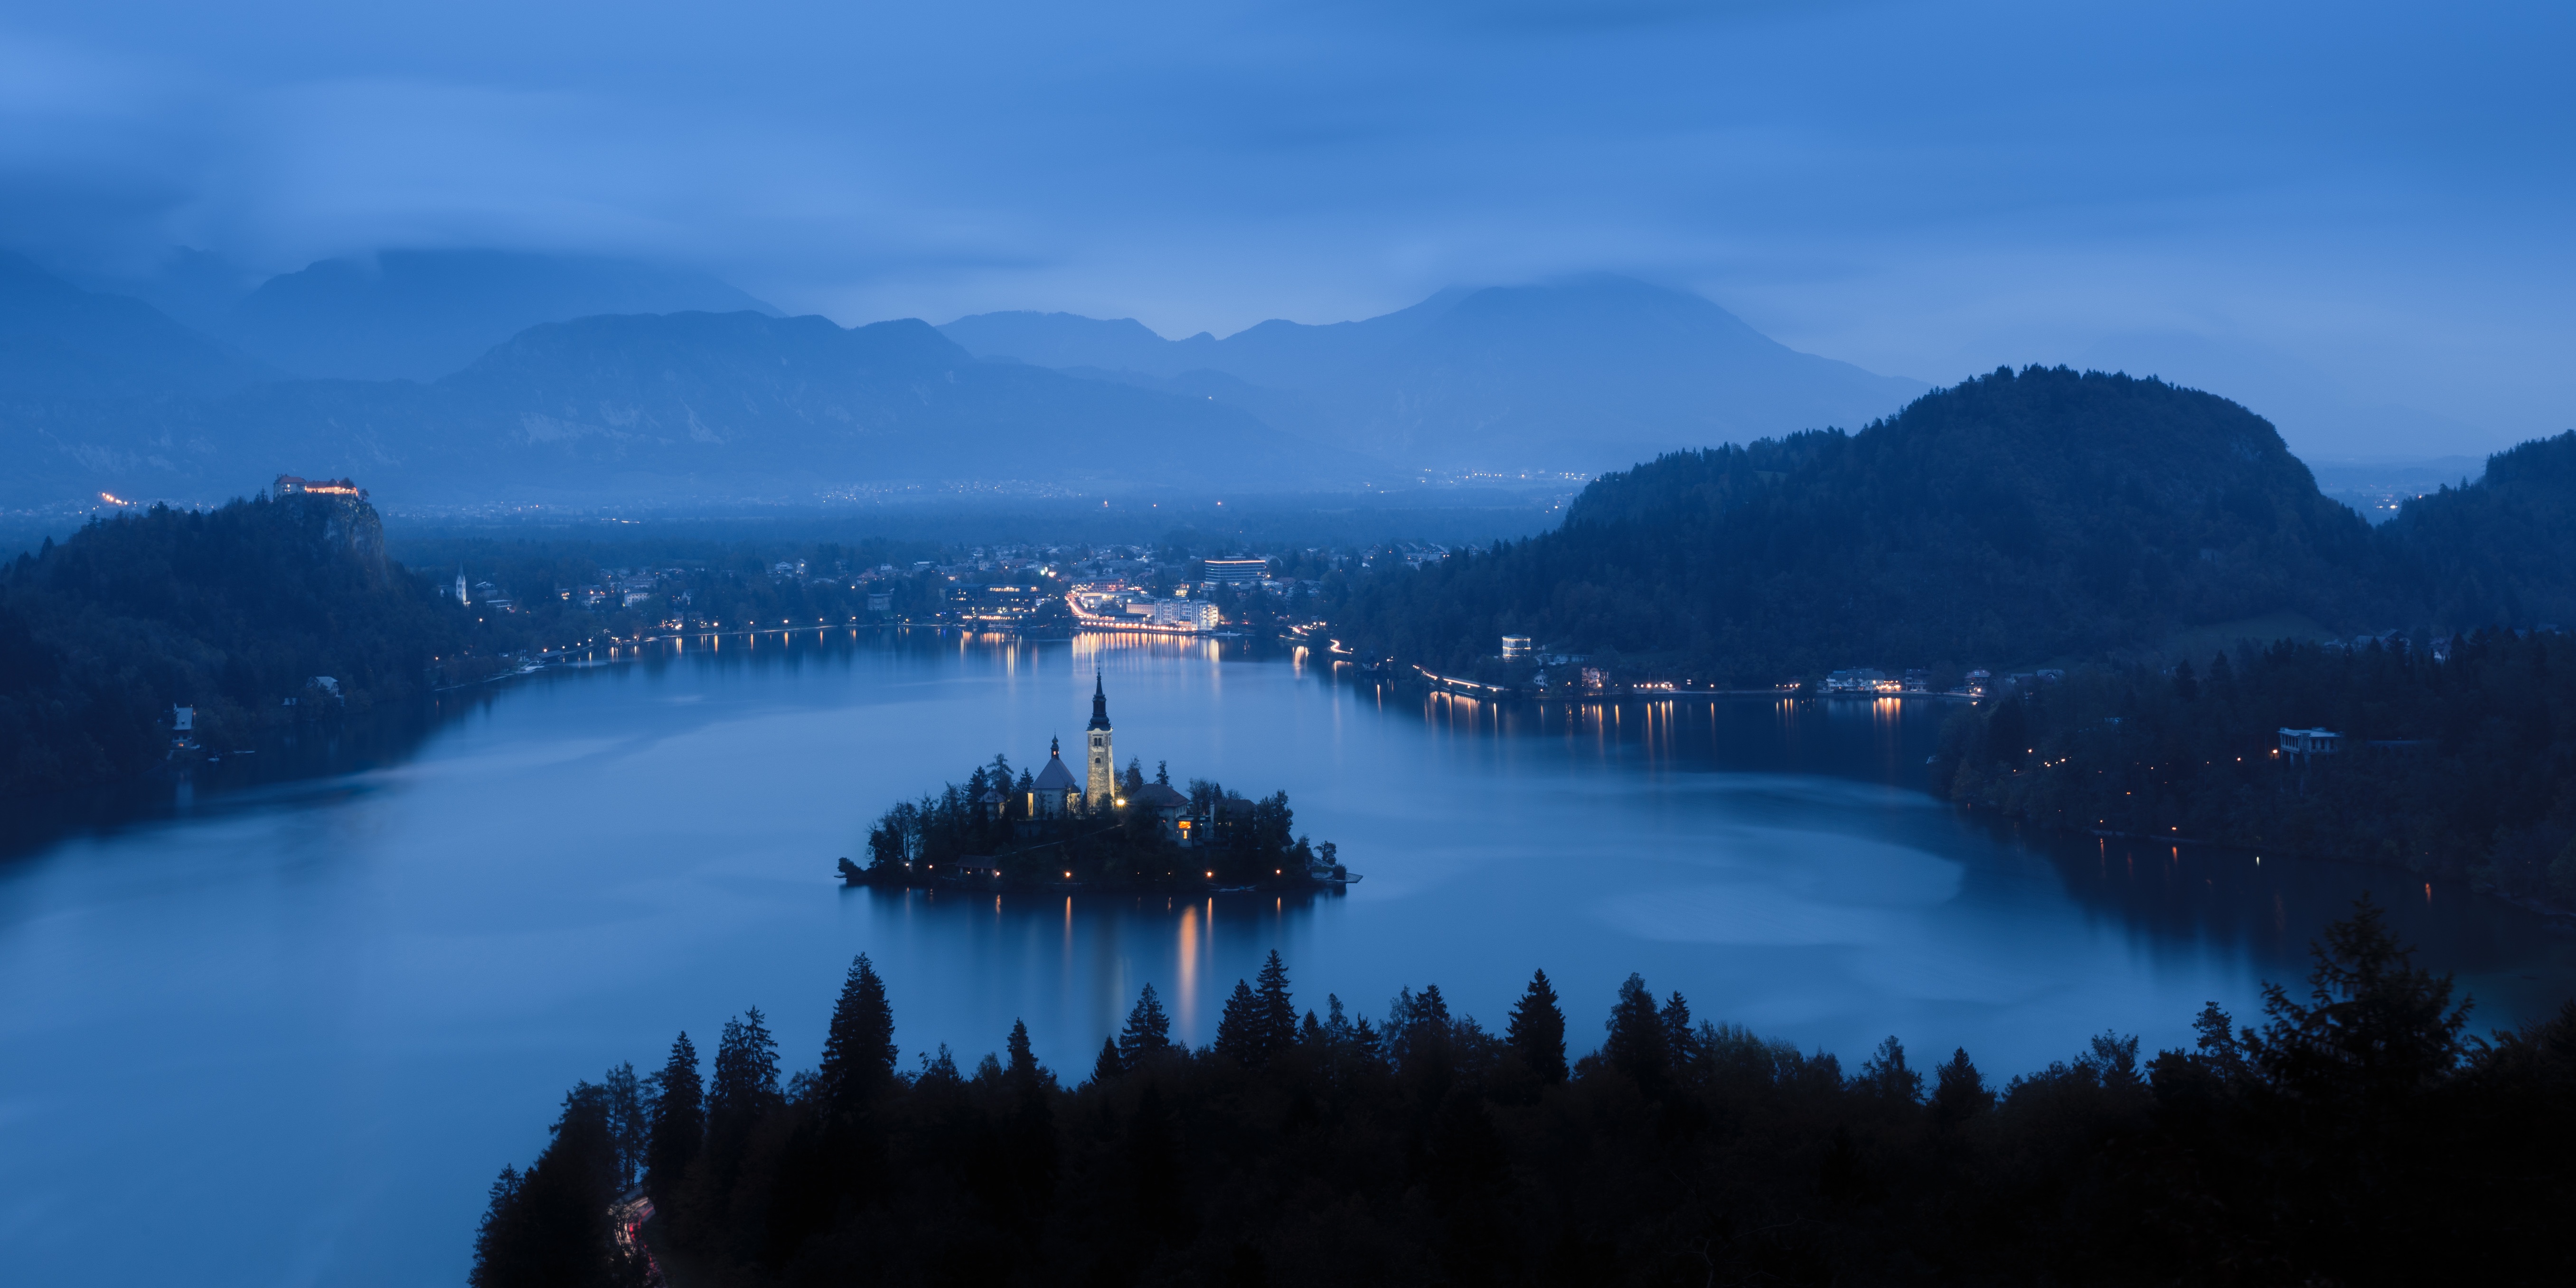
[{"label": "smooth blue lake water surrounding the church island", "polygon": [[[1345,896],[850,891],[891,799],[1077,739],[1285,788]],[[1437,981],[1499,1028],[1543,966],[1577,1041],[1643,971],[1703,1018],[1989,1077],[2257,1010],[2370,889],[2481,1025],[2576,992],[2535,917],[2331,863],[2025,840],[1919,788],[1945,706],[1497,711],[1211,644],[726,641],[477,698],[394,762],[224,788],[0,860],[10,1283],[453,1285],[484,1188],[580,1077],[742,1007],[809,1066],[871,953],[914,1054],[1025,1018],[1079,1077],[1141,984],[1208,1041],[1278,948],[1298,999]],[[397,739],[402,742],[402,739]],[[276,752],[276,750],[273,750]],[[276,762],[270,752],[270,765]]]}]

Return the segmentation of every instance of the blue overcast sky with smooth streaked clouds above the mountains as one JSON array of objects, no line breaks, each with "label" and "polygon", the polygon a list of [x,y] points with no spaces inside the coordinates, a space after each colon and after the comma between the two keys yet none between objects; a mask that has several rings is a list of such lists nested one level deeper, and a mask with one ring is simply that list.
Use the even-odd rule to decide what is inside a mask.
[{"label": "blue overcast sky with smooth streaked clouds above the mountains", "polygon": [[2161,366],[2311,456],[2347,412],[2486,451],[2576,425],[2571,52],[2566,3],[13,0],[0,245],[1164,335],[1607,268],[1873,371]]}]

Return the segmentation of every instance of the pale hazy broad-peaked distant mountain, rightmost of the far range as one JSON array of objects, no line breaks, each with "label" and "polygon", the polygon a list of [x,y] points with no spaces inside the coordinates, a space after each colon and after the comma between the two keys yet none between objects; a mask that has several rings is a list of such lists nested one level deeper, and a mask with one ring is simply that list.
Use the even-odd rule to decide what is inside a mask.
[{"label": "pale hazy broad-peaked distant mountain, rightmost of the far range", "polygon": [[1133,319],[976,314],[969,353],[1234,402],[1422,471],[1623,469],[1664,451],[1893,415],[1929,386],[1798,353],[1726,309],[1631,278],[1453,289],[1365,322],[1164,340]]}]

